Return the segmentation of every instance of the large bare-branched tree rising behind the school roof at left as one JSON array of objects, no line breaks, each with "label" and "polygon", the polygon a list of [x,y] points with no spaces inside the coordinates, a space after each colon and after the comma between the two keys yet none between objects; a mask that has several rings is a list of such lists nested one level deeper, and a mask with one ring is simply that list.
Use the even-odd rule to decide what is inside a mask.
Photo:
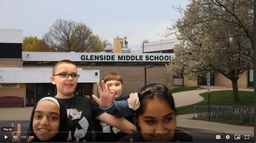
[{"label": "large bare-branched tree rising behind the school roof at left", "polygon": [[83,23],[57,19],[43,36],[55,52],[100,52],[101,42],[90,27]]}]

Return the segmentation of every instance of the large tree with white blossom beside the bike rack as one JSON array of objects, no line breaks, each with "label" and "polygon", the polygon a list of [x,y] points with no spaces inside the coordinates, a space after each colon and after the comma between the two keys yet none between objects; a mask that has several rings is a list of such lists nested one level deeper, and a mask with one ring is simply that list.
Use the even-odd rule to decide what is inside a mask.
[{"label": "large tree with white blossom beside the bike rack", "polygon": [[253,0],[196,0],[178,10],[184,15],[168,29],[178,29],[181,43],[168,71],[188,79],[221,73],[239,102],[237,81],[253,67]]}]

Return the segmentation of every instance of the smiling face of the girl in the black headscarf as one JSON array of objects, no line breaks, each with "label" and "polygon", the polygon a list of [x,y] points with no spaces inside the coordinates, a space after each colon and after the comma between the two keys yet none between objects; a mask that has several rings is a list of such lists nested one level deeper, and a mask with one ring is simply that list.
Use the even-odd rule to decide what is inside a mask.
[{"label": "smiling face of the girl in the black headscarf", "polygon": [[37,103],[33,118],[33,130],[41,141],[52,139],[59,131],[60,110],[51,100]]}]

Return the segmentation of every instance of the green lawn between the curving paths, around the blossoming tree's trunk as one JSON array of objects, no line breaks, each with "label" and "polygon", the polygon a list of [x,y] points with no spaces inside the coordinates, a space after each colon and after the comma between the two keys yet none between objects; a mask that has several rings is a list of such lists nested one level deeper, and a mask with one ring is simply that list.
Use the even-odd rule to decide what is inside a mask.
[{"label": "green lawn between the curving paths, around the blossoming tree's trunk", "polygon": [[[210,93],[210,104],[211,105],[237,105],[237,106],[254,106],[253,92],[252,91],[238,91],[239,99],[241,102],[233,102],[233,91],[232,90],[222,90],[222,91],[211,91]],[[207,92],[200,94],[204,97],[202,102],[178,107],[178,115],[182,114],[193,114],[194,106],[208,106],[208,94]]]}]

